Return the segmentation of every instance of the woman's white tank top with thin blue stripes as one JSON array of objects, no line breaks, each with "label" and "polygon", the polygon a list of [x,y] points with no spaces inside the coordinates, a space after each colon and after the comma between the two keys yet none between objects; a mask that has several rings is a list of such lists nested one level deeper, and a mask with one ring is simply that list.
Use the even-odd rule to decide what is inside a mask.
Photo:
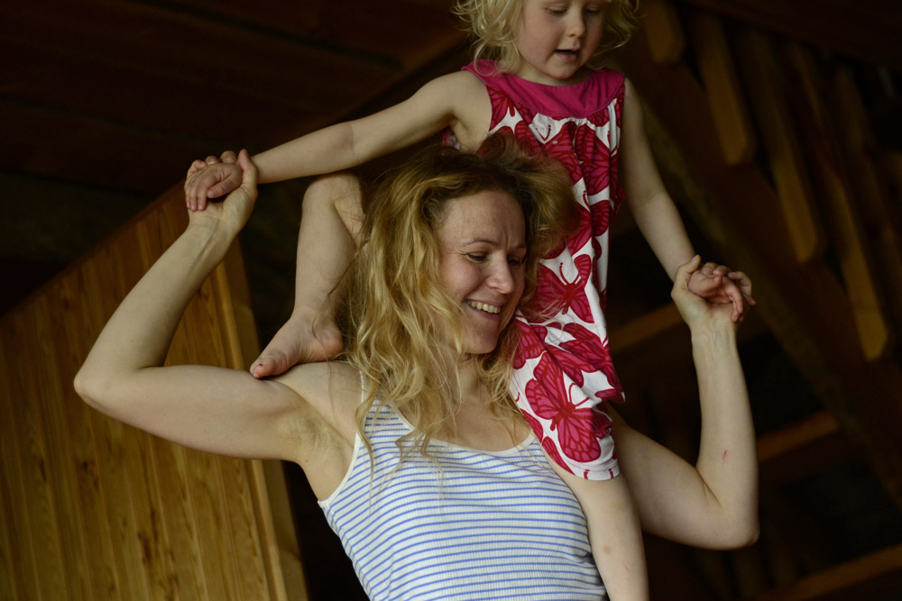
[{"label": "woman's white tank top with thin blue stripes", "polygon": [[319,505],[374,601],[607,599],[579,503],[530,434],[507,451],[433,441],[399,466],[411,430],[376,403],[345,479]]}]

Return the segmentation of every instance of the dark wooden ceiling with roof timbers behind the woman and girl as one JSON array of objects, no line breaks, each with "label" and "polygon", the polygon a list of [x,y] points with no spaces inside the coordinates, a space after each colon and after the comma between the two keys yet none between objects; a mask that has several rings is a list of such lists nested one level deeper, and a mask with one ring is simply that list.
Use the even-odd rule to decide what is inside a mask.
[{"label": "dark wooden ceiling with roof timbers behind the woman and girl", "polygon": [[[371,112],[463,64],[449,5],[5,6],[0,255],[13,277],[2,306],[178,185],[191,159],[262,150]],[[750,271],[760,303],[744,326],[743,359],[761,433],[762,539],[717,554],[649,541],[653,590],[898,598],[902,5],[642,6],[643,32],[619,60],[648,103],[668,187],[699,248]],[[243,239],[264,339],[290,305],[302,189],[267,188]],[[667,307],[667,279],[629,215],[619,222],[612,344],[629,417],[691,456],[686,335]],[[353,577],[331,571],[335,560],[321,551],[330,535],[298,494],[299,520],[310,524],[299,528],[301,546],[316,549],[311,592],[351,598],[328,588]]]}]

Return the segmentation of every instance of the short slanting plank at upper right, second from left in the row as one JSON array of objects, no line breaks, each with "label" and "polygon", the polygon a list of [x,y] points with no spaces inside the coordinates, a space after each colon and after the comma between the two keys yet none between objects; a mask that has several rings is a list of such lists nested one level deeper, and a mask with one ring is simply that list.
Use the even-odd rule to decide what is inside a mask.
[{"label": "short slanting plank at upper right, second from left in the row", "polygon": [[688,28],[705,96],[727,165],[744,165],[758,150],[749,108],[723,23],[713,14],[688,12]]}]

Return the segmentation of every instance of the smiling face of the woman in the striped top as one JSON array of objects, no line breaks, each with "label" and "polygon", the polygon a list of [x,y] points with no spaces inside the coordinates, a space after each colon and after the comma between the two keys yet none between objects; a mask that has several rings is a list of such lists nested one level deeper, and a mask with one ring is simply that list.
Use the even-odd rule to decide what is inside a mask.
[{"label": "smiling face of the woman in the striped top", "polygon": [[527,248],[520,205],[498,190],[448,201],[436,238],[439,278],[463,305],[464,351],[491,352],[523,294]]}]

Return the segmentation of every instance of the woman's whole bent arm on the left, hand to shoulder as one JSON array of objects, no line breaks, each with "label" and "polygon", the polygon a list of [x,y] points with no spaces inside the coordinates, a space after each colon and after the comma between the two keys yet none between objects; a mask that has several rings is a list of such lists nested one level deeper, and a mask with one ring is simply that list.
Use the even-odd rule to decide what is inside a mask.
[{"label": "woman's whole bent arm on the left, hand to shoulder", "polygon": [[238,163],[242,186],[225,202],[191,215],[188,229],[116,309],[75,387],[89,405],[172,442],[235,457],[303,462],[322,447],[323,436],[342,429],[317,407],[327,405],[322,397],[328,386],[314,366],[280,381],[255,380],[234,369],[161,367],[185,307],[253,208],[253,164],[244,151]]}]

